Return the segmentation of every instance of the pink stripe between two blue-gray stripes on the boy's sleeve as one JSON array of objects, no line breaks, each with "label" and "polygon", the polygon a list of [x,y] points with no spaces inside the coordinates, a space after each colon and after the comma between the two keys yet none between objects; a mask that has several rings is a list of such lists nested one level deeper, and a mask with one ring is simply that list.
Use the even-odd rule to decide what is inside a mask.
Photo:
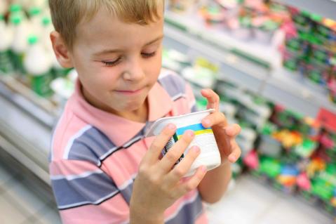
[{"label": "pink stripe between two blue-gray stripes on the boy's sleeve", "polygon": [[49,173],[51,176],[69,176],[79,175],[84,172],[97,171],[98,167],[90,162],[79,160],[58,160],[49,164]]}]

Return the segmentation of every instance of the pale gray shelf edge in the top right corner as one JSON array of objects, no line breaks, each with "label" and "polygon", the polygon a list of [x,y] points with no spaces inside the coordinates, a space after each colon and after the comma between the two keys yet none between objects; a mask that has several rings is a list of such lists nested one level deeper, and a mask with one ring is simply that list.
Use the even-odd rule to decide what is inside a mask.
[{"label": "pale gray shelf edge in the top right corner", "polygon": [[322,15],[325,18],[336,20],[336,1],[335,0],[278,0],[288,6],[295,6],[310,13]]}]

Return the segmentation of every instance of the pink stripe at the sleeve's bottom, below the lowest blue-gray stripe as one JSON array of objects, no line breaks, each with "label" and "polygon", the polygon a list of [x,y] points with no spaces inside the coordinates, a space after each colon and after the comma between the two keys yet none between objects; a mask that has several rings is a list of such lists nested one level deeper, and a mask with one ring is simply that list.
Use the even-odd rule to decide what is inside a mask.
[{"label": "pink stripe at the sleeve's bottom, below the lowest blue-gray stripe", "polygon": [[119,194],[98,206],[86,205],[60,211],[62,223],[123,223],[129,219],[129,207]]}]

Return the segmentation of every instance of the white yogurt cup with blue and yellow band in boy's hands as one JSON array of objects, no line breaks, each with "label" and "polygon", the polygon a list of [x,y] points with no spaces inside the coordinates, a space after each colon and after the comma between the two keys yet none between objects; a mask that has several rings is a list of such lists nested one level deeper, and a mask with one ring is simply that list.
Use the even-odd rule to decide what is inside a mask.
[{"label": "white yogurt cup with blue and yellow band in boy's hands", "polygon": [[201,124],[201,121],[214,111],[215,110],[210,109],[176,117],[163,117],[154,122],[147,132],[146,137],[158,136],[168,124],[175,124],[177,127],[176,132],[162,150],[164,157],[170,148],[173,147],[174,143],[182,137],[184,131],[194,131],[194,139],[191,141],[180,159],[177,160],[175,165],[182,161],[184,155],[187,154],[192,146],[196,145],[201,149],[201,154],[199,154],[199,157],[197,157],[194,163],[191,164],[191,168],[185,176],[193,175],[199,166],[206,166],[206,169],[210,171],[211,169],[215,169],[217,166],[220,166],[220,151],[218,150],[213,130],[211,128],[206,129]]}]

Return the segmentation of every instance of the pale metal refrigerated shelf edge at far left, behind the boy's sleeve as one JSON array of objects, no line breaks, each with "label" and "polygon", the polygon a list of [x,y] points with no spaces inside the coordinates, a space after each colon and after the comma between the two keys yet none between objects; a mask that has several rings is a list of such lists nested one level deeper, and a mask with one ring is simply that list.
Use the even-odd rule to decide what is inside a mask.
[{"label": "pale metal refrigerated shelf edge at far left, behind the boy's sleeve", "polygon": [[57,119],[46,110],[49,104],[13,77],[0,77],[0,147],[45,183],[49,183],[48,152]]}]

